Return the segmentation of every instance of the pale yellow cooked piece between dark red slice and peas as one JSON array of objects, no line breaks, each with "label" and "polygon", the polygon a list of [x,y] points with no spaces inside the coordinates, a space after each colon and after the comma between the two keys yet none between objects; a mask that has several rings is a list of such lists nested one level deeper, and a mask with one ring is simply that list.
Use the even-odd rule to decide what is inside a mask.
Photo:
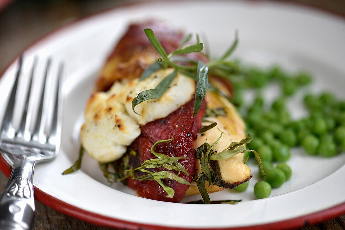
[{"label": "pale yellow cooked piece between dark red slice and peas", "polygon": [[[195,140],[195,146],[201,146],[204,143],[212,145],[217,141],[221,132],[224,135],[221,136],[219,141],[213,146],[212,150],[215,154],[223,152],[229,146],[231,142],[239,142],[245,138],[245,125],[242,118],[236,111],[236,108],[223,96],[218,93],[208,92],[206,94],[208,111],[222,111],[220,114],[206,114],[202,123],[203,126],[217,123],[214,128],[207,130],[204,133],[199,133],[197,140]],[[249,167],[243,163],[244,153],[239,153],[233,157],[218,160],[221,178],[229,184],[233,184],[234,187],[238,184],[242,184],[252,178],[252,173]],[[196,162],[196,173],[201,172],[200,162]],[[207,192],[218,192],[226,189],[216,185],[206,186]],[[186,195],[193,195],[200,193],[196,182],[191,183]]]}]

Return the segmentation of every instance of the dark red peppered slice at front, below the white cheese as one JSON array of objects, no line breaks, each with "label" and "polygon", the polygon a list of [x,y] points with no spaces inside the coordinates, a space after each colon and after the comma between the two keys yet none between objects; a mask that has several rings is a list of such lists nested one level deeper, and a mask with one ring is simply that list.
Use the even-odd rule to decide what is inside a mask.
[{"label": "dark red peppered slice at front, below the white cheese", "polygon": [[[130,145],[135,152],[135,156],[129,156],[129,165],[131,168],[140,166],[144,161],[155,158],[151,153],[151,147],[160,140],[172,139],[170,142],[160,143],[155,147],[155,151],[170,157],[186,157],[178,162],[186,169],[187,173],[180,172],[180,177],[191,183],[195,175],[195,157],[194,141],[201,128],[201,118],[206,109],[206,103],[203,104],[198,114],[193,117],[194,102],[191,100],[186,105],[181,106],[175,112],[167,117],[157,119],[141,127],[140,136]],[[152,169],[152,172],[168,171],[164,167]],[[171,170],[170,170],[171,171]],[[171,171],[178,174],[177,171]],[[141,171],[135,172],[135,177],[145,175]],[[178,202],[186,193],[189,184],[183,184],[170,178],[163,179],[162,182],[171,187],[174,191],[174,197],[166,197],[164,189],[155,181],[138,181],[132,178],[127,179],[128,186],[137,191],[138,195],[154,200]]]}]

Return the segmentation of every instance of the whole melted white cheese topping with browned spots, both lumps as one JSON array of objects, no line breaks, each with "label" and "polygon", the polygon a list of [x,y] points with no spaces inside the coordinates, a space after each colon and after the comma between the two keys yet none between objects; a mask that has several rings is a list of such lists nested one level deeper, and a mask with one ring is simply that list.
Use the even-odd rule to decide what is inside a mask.
[{"label": "whole melted white cheese topping with browned spots, both lumps", "polygon": [[108,92],[94,93],[86,106],[86,122],[81,127],[81,143],[86,152],[99,162],[122,157],[140,133],[140,125],[166,117],[186,104],[195,93],[195,82],[177,74],[166,92],[158,99],[150,99],[132,110],[132,100],[142,91],[155,88],[172,69],[158,70],[139,81],[116,82]]}]

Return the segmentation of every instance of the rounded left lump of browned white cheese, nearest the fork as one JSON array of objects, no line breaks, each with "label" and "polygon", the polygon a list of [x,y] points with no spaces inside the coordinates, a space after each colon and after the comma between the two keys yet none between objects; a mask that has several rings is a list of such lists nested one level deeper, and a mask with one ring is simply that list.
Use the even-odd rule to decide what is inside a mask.
[{"label": "rounded left lump of browned white cheese, nearest the fork", "polygon": [[99,162],[119,159],[140,135],[140,126],[128,115],[119,95],[111,92],[93,94],[85,110],[81,144]]}]

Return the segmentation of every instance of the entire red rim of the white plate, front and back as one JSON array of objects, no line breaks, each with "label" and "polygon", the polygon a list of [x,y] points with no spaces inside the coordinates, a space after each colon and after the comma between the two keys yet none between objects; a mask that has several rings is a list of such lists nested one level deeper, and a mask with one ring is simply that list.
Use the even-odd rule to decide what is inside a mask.
[{"label": "entire red rim of the white plate, front and back", "polygon": [[[156,1],[156,0],[151,0],[151,1]],[[322,9],[322,8],[319,8],[319,7],[311,6],[311,5],[306,4],[306,3],[295,2],[294,0],[291,0],[291,1],[294,2],[294,3],[298,3],[299,5],[302,5],[302,6],[312,7],[312,8],[316,8],[316,9],[319,9],[319,10],[323,10],[323,11],[326,11],[326,12],[333,13],[334,15],[341,16],[343,19],[345,18],[345,15],[343,15],[342,13],[337,13],[337,12],[333,12],[333,11],[330,11],[330,10],[325,10],[325,9]],[[260,2],[260,1],[253,1],[253,3],[254,2]],[[283,2],[283,1],[279,1],[279,2]],[[67,25],[59,27],[59,28],[51,31],[47,35],[41,37],[40,39],[36,40],[30,46],[28,46],[24,50],[22,50],[22,52],[26,51],[31,46],[38,44],[41,40],[46,39],[48,37],[51,37],[52,35],[54,35],[59,30],[61,30],[63,28],[66,28],[68,26],[71,26],[71,25],[73,25],[73,24],[75,24],[77,22],[80,22],[82,20],[91,18],[91,17],[96,16],[96,15],[100,15],[102,13],[105,13],[105,12],[108,12],[108,11],[111,11],[111,10],[114,10],[114,9],[128,7],[130,5],[140,4],[140,3],[143,3],[143,2],[129,3],[129,4],[121,5],[121,6],[118,6],[118,7],[110,8],[110,9],[107,9],[107,10],[104,10],[104,11],[101,11],[101,12],[98,12],[98,13],[86,16],[84,18],[78,19],[78,20],[73,21],[71,23],[68,23]],[[298,4],[296,4],[296,5],[298,5]],[[19,55],[16,58],[14,58],[3,69],[3,71],[1,71],[0,77],[2,77],[2,75],[5,73],[5,71],[17,60],[18,57],[19,57]],[[7,176],[7,178],[9,178],[9,176],[11,174],[11,171],[12,171],[12,167],[7,163],[7,161],[3,158],[3,156],[1,154],[0,154],[0,170],[1,170],[1,172],[5,176]],[[57,199],[55,197],[52,197],[51,195],[43,192],[42,190],[38,189],[35,186],[34,186],[34,197],[39,202],[47,205],[48,207],[50,207],[52,209],[55,209],[56,211],[59,211],[59,212],[64,213],[66,215],[69,215],[70,217],[77,218],[79,220],[89,222],[91,224],[96,224],[98,226],[106,226],[106,227],[120,228],[120,229],[133,229],[133,230],[146,230],[146,229],[157,229],[157,230],[159,230],[159,229],[162,229],[162,228],[167,229],[167,230],[195,229],[195,228],[180,228],[180,227],[174,228],[174,227],[167,227],[167,226],[142,224],[142,223],[136,223],[136,222],[129,222],[129,221],[124,221],[124,220],[119,220],[119,219],[115,219],[115,218],[111,218],[111,217],[105,217],[103,215],[96,214],[96,213],[93,213],[93,212],[89,212],[89,211],[80,209],[78,207],[75,207],[73,205],[70,205],[68,203],[65,203],[65,202],[63,202],[63,201],[61,201],[61,200],[59,200],[59,199]],[[316,224],[316,223],[319,223],[319,222],[323,222],[323,221],[326,221],[326,220],[329,220],[329,219],[332,219],[332,218],[336,218],[336,217],[339,217],[339,216],[341,216],[343,214],[345,214],[345,202],[341,203],[341,204],[338,204],[338,205],[336,205],[336,206],[334,206],[332,208],[328,208],[328,209],[325,209],[325,210],[322,210],[322,211],[319,211],[319,212],[315,212],[315,213],[312,213],[312,214],[304,215],[304,216],[293,218],[293,219],[288,219],[288,220],[283,220],[283,221],[278,221],[278,222],[273,222],[273,223],[267,223],[267,224],[254,225],[254,226],[230,227],[230,228],[215,228],[215,229],[240,229],[240,230],[256,229],[256,230],[264,230],[264,229],[298,228],[298,227],[303,227],[303,226],[308,226],[308,225]],[[211,228],[206,228],[206,229],[211,229]],[[205,230],[205,228],[203,228],[203,230]]]}]

